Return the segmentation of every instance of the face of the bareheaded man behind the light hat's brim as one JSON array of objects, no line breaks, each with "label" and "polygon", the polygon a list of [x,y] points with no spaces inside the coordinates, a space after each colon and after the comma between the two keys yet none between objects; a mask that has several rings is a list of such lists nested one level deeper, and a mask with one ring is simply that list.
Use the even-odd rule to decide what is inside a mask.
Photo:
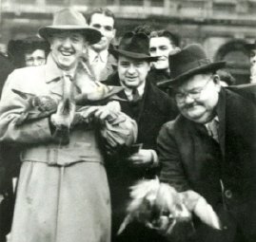
[{"label": "face of the bareheaded man behind the light hat's brim", "polygon": [[103,13],[94,13],[91,16],[89,27],[99,30],[102,34],[100,42],[91,47],[97,52],[108,49],[111,40],[115,36],[114,19]]}]

